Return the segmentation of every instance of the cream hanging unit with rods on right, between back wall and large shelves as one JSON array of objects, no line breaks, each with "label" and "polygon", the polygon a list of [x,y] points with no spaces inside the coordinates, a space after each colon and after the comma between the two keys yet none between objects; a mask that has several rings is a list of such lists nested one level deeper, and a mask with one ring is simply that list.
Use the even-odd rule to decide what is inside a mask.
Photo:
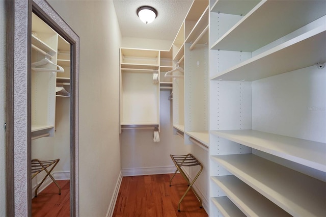
[{"label": "cream hanging unit with rods on right, between back wall and large shelves", "polygon": [[208,1],[194,1],[173,42],[173,126],[185,144],[208,139]]}]

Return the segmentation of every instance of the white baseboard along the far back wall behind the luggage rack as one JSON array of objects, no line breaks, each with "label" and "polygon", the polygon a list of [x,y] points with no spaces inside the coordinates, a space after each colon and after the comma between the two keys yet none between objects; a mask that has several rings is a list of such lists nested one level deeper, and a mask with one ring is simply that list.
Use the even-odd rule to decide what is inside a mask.
[{"label": "white baseboard along the far back wall behind the luggage rack", "polygon": [[175,166],[167,167],[144,167],[144,168],[127,168],[122,169],[122,176],[143,176],[143,175],[156,175],[174,173]]}]

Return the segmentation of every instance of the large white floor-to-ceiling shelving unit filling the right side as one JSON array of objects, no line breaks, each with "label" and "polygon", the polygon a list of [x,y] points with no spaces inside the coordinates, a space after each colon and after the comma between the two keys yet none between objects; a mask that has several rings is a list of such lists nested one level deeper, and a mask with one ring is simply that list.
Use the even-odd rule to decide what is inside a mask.
[{"label": "large white floor-to-ceiling shelving unit filling the right side", "polygon": [[210,216],[326,213],[325,9],[210,1]]}]

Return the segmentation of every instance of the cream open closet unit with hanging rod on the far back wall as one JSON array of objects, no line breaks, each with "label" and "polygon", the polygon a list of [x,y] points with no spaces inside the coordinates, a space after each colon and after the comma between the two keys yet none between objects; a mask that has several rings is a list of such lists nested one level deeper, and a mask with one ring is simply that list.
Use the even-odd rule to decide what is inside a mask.
[{"label": "cream open closet unit with hanging rod on the far back wall", "polygon": [[121,129],[159,128],[159,50],[120,49]]}]

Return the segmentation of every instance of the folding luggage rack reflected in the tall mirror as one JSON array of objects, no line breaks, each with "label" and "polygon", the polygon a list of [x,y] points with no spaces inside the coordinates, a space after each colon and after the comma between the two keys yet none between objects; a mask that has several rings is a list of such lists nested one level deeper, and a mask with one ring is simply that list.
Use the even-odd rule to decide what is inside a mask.
[{"label": "folding luggage rack reflected in the tall mirror", "polygon": [[[57,166],[58,162],[60,159],[55,159],[55,160],[38,160],[38,159],[33,159],[32,160],[32,179],[39,174],[40,172],[42,172],[43,170],[46,172],[46,176],[43,178],[43,180],[37,185],[36,189],[35,189],[35,197],[37,197],[37,190],[39,189],[39,187],[43,184],[43,182],[45,181],[46,177],[50,177],[53,182],[55,182],[55,184],[58,186],[59,188],[59,195],[61,195],[61,187],[59,186],[59,184],[57,183],[57,181],[55,180],[55,178],[53,178],[53,176],[50,174],[51,171]],[[52,166],[53,167],[48,171],[47,168]]]}]

